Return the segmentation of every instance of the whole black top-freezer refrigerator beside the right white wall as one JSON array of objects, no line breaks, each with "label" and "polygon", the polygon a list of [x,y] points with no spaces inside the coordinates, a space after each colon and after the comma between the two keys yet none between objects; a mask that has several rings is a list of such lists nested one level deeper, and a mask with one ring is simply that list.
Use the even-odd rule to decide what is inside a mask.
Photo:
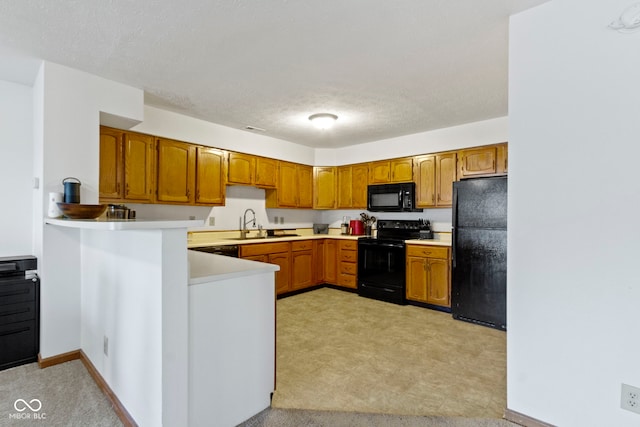
[{"label": "whole black top-freezer refrigerator beside the right white wall", "polygon": [[507,329],[507,177],[453,184],[451,314]]}]

